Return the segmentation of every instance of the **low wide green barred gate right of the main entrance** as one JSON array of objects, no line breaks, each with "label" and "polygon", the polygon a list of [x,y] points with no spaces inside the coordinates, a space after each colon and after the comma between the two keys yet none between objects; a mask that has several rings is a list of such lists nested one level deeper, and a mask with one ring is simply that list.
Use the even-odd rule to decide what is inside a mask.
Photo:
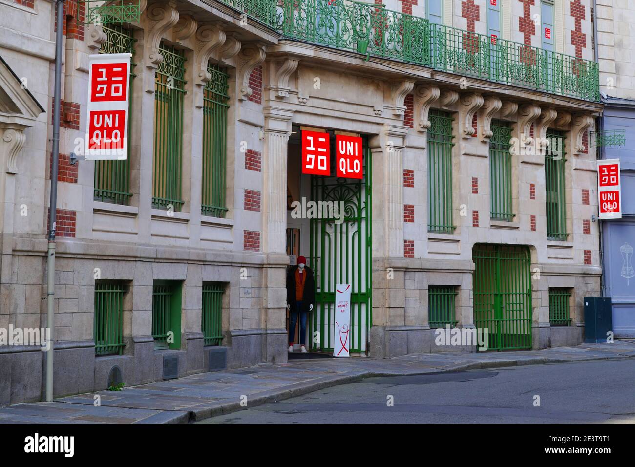
[{"label": "low wide green barred gate right of the main entrance", "polygon": [[491,350],[531,348],[529,249],[474,245],[474,325],[488,329]]}]

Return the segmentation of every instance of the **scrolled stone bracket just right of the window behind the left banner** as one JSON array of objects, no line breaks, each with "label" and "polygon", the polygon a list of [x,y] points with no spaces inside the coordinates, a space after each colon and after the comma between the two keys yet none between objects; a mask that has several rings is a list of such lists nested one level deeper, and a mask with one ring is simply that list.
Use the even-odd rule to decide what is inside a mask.
[{"label": "scrolled stone bracket just right of the window behind the left banner", "polygon": [[[163,55],[159,53],[161,39],[178,22],[177,3],[174,0],[167,3],[154,3],[148,8],[146,16],[149,25],[146,28],[147,45],[144,62],[147,68],[154,71],[163,62]],[[145,83],[145,91],[152,93],[154,92],[154,76],[149,73],[146,73],[145,76],[148,81]]]}]

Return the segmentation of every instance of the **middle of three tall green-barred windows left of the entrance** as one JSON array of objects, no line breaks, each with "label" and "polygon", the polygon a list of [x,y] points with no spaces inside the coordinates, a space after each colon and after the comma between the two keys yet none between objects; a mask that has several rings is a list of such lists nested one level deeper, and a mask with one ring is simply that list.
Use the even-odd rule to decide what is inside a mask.
[{"label": "middle of three tall green-barred windows left of the entrance", "polygon": [[156,71],[154,86],[154,172],[152,207],[179,211],[183,161],[183,101],[185,57],[182,50],[159,47],[163,62]]}]

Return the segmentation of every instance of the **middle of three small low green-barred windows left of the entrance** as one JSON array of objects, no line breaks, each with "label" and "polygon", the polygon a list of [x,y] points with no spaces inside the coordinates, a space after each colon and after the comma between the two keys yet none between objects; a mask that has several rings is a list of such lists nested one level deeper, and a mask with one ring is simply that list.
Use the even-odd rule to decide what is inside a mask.
[{"label": "middle of three small low green-barred windows left of the entrance", "polygon": [[154,348],[178,349],[181,335],[181,287],[175,281],[154,281],[152,337]]}]

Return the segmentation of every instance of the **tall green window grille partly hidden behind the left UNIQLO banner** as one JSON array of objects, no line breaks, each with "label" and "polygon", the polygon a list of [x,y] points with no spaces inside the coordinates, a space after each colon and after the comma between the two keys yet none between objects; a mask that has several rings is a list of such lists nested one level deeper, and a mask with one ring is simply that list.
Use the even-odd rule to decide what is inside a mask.
[{"label": "tall green window grille partly hidden behind the left UNIQLO banner", "polygon": [[[135,39],[130,29],[117,24],[104,25],[106,41],[100,48],[100,53],[135,53]],[[135,64],[130,63],[130,85],[135,74],[132,72]],[[132,95],[128,100],[128,114],[131,114]],[[130,129],[132,119],[128,119],[128,158],[124,161],[95,161],[95,191],[96,201],[127,205],[132,193],[130,193]]]}]

